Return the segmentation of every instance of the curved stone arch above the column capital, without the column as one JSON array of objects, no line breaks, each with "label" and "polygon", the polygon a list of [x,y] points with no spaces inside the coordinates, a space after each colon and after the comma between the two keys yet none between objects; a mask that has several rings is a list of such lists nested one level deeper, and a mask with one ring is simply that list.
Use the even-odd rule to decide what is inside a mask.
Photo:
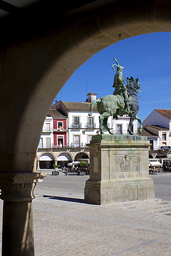
[{"label": "curved stone arch above the column capital, without the column", "polygon": [[[86,13],[78,11],[81,18],[70,13],[69,23],[67,16],[62,17],[62,25],[54,25],[55,29],[27,38],[19,36],[14,44],[9,41],[3,45],[1,75],[3,88],[9,88],[6,92],[3,89],[4,99],[5,93],[9,99],[7,108],[3,107],[3,172],[9,167],[11,172],[32,171],[43,121],[55,95],[94,53],[121,39],[170,31],[169,1],[140,1],[136,5],[134,1],[114,1],[84,8]],[[32,115],[35,109],[37,115]]]}]

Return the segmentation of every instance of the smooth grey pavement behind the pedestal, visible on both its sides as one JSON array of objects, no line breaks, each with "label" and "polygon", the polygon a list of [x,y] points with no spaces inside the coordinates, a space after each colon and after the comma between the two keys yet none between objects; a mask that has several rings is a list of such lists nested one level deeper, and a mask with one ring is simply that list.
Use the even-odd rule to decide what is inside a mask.
[{"label": "smooth grey pavement behind the pedestal, visible on both its sides", "polygon": [[[84,198],[84,186],[88,175],[67,176],[60,172],[59,176],[52,176],[52,171],[45,170],[47,177],[43,183],[37,183],[35,193],[51,196]],[[156,198],[171,201],[171,173],[151,174],[155,186]],[[43,185],[42,185],[43,184]],[[77,197],[78,195],[78,197]]]}]

